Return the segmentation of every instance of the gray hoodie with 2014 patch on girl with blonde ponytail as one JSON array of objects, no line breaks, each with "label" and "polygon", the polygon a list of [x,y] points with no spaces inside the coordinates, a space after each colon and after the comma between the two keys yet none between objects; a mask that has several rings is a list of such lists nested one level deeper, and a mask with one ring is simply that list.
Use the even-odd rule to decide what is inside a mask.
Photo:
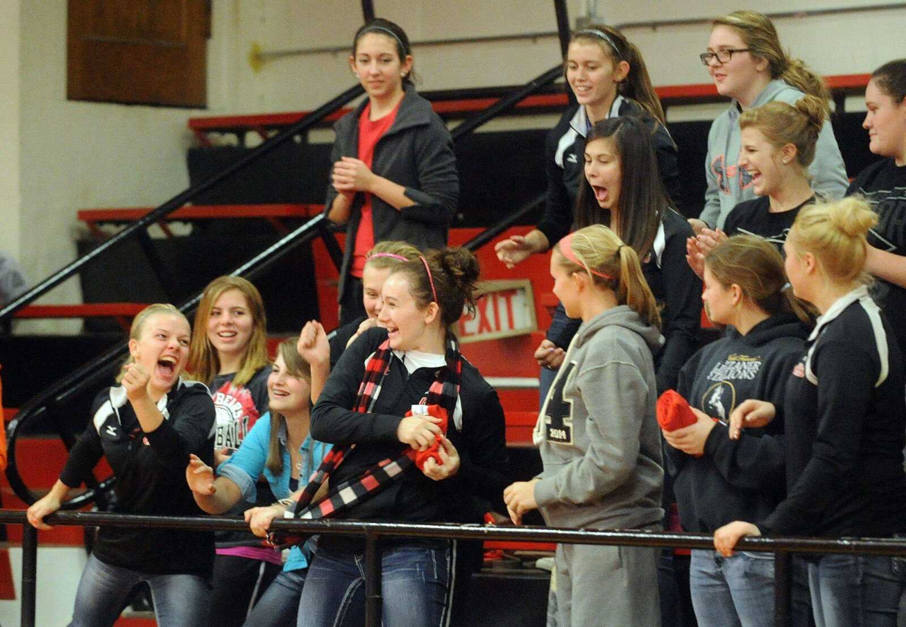
[{"label": "gray hoodie with 2014 patch on girl with blonde ponytail", "polygon": [[628,305],[579,327],[535,425],[545,464],[535,501],[548,525],[660,524],[664,473],[651,353],[662,343]]}]

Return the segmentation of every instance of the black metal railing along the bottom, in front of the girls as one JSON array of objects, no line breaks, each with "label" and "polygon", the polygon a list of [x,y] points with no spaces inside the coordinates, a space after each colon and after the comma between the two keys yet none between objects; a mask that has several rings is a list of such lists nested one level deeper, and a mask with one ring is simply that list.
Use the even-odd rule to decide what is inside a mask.
[{"label": "black metal railing along the bottom, in front of the girls", "polygon": [[[57,512],[45,522],[66,526],[115,526],[168,528],[183,530],[247,530],[241,518],[226,516],[134,516],[101,512]],[[22,535],[22,627],[34,627],[37,594],[37,529],[29,525],[25,512],[0,509],[0,523],[23,526]],[[298,520],[276,518],[274,530],[305,534],[358,535],[365,539],[365,625],[381,624],[381,559],[382,537],[430,537],[450,540],[505,540],[546,542],[567,545],[651,546],[689,549],[713,549],[710,535],[689,533],[654,533],[647,531],[583,531],[551,527],[498,527],[448,524],[366,523],[347,520]],[[775,625],[790,621],[792,583],[791,554],[860,554],[906,557],[906,540],[890,538],[807,538],[747,536],[737,550],[774,553],[775,555]]]}]

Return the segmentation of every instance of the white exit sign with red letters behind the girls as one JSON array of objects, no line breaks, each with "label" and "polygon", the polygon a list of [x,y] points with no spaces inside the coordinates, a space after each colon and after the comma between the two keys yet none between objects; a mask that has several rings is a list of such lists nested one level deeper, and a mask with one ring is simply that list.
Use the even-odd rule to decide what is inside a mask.
[{"label": "white exit sign with red letters behind the girls", "polygon": [[485,281],[475,314],[459,318],[459,342],[483,342],[537,330],[535,296],[528,279]]}]

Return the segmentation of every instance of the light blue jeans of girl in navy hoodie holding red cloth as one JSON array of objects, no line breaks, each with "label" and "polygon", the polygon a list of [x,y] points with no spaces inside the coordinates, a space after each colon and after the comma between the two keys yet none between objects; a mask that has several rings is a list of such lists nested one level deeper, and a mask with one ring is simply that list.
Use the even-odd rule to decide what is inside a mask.
[{"label": "light blue jeans of girl in navy hoodie holding red cloth", "polygon": [[737,551],[724,557],[695,549],[689,567],[692,606],[699,627],[771,627],[774,555]]}]

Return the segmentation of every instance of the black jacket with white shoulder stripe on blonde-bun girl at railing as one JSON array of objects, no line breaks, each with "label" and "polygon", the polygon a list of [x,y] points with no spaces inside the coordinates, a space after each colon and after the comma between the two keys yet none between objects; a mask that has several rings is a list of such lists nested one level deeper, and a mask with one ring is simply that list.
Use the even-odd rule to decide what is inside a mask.
[{"label": "black jacket with white shoulder stripe on blonde-bun girl at railing", "polygon": [[818,319],[786,385],[787,497],[771,535],[889,536],[906,529],[900,347],[859,287]]}]

